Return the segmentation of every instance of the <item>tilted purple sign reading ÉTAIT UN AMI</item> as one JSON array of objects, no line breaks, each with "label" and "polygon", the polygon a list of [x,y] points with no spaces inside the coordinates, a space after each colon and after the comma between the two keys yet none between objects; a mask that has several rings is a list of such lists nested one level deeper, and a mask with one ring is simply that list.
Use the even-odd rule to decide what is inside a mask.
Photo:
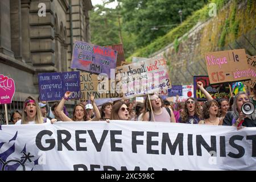
[{"label": "tilted purple sign reading \u00c9TAIT UN AMI", "polygon": [[115,69],[117,51],[107,47],[95,46],[76,41],[73,47],[71,68],[90,73],[106,73],[110,77],[110,69]]}]

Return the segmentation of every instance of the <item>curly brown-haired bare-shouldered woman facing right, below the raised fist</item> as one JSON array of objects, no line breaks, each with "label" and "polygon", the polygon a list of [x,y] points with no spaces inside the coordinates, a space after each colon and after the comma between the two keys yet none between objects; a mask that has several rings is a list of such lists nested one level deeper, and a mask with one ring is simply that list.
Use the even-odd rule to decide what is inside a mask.
[{"label": "curly brown-haired bare-shouldered woman facing right, below the raised fist", "polygon": [[222,125],[223,118],[217,117],[218,115],[218,102],[210,100],[203,105],[203,118],[199,122],[200,125]]}]

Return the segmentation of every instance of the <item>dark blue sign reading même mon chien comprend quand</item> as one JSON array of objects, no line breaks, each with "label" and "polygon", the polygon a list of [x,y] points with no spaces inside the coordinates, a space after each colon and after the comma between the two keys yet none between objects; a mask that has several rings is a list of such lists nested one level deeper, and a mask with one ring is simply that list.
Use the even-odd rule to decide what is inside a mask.
[{"label": "dark blue sign reading m\u00eame mon chien comprend quand", "polygon": [[38,74],[40,101],[59,101],[66,91],[71,91],[71,99],[78,100],[80,93],[80,73],[40,73]]}]

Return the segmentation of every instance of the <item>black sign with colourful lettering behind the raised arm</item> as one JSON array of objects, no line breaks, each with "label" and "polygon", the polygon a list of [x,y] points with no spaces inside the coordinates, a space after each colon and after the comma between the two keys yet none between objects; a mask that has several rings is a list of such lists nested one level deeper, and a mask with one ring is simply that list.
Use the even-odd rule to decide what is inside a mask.
[{"label": "black sign with colourful lettering behind the raised arm", "polygon": [[208,76],[194,76],[194,97],[198,101],[207,101],[205,95],[201,92],[201,90],[197,87],[197,82],[201,81],[204,85],[204,89],[212,96],[213,99],[220,99],[226,98],[229,99],[230,97],[230,90],[228,83],[222,84],[214,84],[210,85],[209,77]]}]

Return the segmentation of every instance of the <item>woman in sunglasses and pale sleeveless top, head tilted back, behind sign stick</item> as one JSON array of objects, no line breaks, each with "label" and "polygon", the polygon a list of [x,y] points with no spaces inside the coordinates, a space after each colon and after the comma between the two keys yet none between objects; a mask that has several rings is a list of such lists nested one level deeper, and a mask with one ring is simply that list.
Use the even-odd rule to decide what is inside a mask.
[{"label": "woman in sunglasses and pale sleeveless top, head tilted back, behind sign stick", "polygon": [[[150,102],[152,105],[152,110],[150,107]],[[142,121],[158,121],[158,122],[176,122],[174,112],[169,107],[162,107],[162,100],[157,94],[151,94],[150,100],[146,97],[144,108],[145,113],[143,115]],[[154,114],[154,118],[152,117]]]}]

